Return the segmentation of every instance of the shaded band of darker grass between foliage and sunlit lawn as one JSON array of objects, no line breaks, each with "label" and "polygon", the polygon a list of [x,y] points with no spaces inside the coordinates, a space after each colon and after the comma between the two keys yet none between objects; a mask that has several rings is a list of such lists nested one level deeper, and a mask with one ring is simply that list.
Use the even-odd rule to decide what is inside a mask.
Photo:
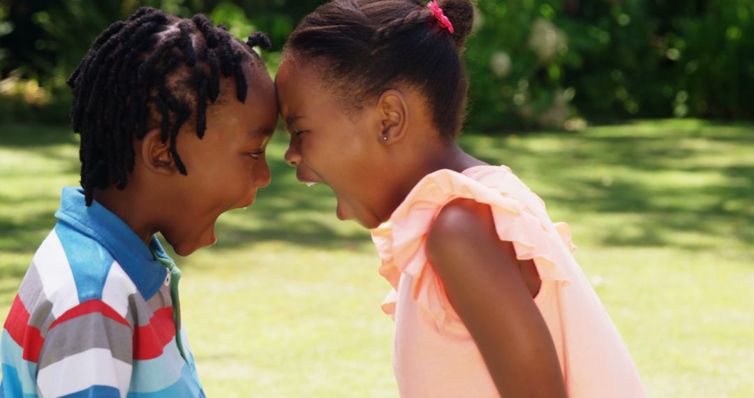
[{"label": "shaded band of darker grass between foliage and sunlit lawn", "polygon": [[[60,151],[60,147],[78,145],[69,129],[14,125],[2,131],[0,146],[20,153],[43,153],[64,160],[69,165],[66,171],[78,170],[74,152]],[[253,207],[221,217],[216,248],[233,250],[268,241],[323,249],[368,245],[368,231],[336,219],[336,201],[329,188],[306,188],[296,182],[293,168],[282,159],[286,144],[287,135],[278,132],[268,149],[273,182],[259,191]],[[550,208],[599,215],[598,223],[605,219],[602,216],[634,215],[630,233],[615,226],[589,225],[602,229],[598,236],[605,246],[703,250],[721,239],[749,246],[754,241],[754,164],[746,155],[754,149],[749,124],[651,121],[519,138],[467,135],[461,144],[490,164],[509,165],[527,183],[536,180],[541,186],[557,188],[542,194]],[[706,176],[708,181],[697,182],[697,176]],[[26,206],[23,217],[12,216],[12,210],[0,213],[0,256],[28,253],[23,263],[0,262],[0,277],[23,274],[19,270],[26,269],[54,225],[58,200],[24,197],[14,201],[0,190],[5,209]],[[688,233],[710,237],[709,243],[673,238]]]}]

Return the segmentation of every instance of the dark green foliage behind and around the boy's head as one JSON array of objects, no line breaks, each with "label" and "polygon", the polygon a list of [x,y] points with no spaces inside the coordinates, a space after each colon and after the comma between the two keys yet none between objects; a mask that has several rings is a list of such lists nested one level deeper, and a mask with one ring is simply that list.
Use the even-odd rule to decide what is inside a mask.
[{"label": "dark green foliage behind and around the boy's head", "polygon": [[[150,6],[182,17],[204,13],[215,23],[245,39],[256,30],[268,32],[274,49],[280,51],[299,19],[321,1],[263,0],[14,0],[0,5],[0,72],[2,78],[38,84],[50,98],[27,103],[24,96],[0,93],[0,121],[68,122],[70,93],[66,78],[73,72],[90,44],[110,23],[122,20],[136,8]],[[279,54],[265,52],[271,72]],[[8,85],[6,84],[6,86]]]}]

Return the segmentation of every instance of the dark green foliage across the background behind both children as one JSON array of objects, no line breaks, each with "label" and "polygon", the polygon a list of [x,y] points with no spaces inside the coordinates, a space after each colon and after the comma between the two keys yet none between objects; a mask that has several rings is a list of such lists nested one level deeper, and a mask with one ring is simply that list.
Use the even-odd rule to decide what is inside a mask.
[{"label": "dark green foliage across the background behind both children", "polygon": [[[263,57],[274,72],[296,23],[322,3],[14,0],[0,5],[0,72],[65,99],[65,79],[91,41],[141,5],[203,12],[239,38],[268,32],[273,49]],[[583,126],[579,118],[754,118],[752,0],[479,0],[475,31],[469,130],[572,129]],[[17,108],[8,101],[0,97],[3,120],[29,114],[6,112]]]}]

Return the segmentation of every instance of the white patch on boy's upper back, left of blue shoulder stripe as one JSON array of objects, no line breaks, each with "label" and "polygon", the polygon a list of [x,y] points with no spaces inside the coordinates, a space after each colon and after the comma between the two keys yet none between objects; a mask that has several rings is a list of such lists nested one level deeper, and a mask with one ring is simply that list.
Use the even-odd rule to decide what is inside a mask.
[{"label": "white patch on boy's upper back, left of blue shoulder stripe", "polygon": [[55,230],[39,246],[33,262],[42,281],[44,296],[52,303],[54,317],[60,317],[78,305],[78,290],[71,265]]}]

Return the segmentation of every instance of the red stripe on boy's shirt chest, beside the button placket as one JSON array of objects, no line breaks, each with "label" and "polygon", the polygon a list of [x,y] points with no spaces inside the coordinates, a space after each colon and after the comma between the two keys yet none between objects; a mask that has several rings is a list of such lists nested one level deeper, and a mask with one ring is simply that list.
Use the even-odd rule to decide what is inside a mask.
[{"label": "red stripe on boy's shirt chest, beside the button placket", "polygon": [[151,360],[162,355],[163,347],[176,336],[173,307],[160,308],[149,324],[133,332],[133,359]]}]

